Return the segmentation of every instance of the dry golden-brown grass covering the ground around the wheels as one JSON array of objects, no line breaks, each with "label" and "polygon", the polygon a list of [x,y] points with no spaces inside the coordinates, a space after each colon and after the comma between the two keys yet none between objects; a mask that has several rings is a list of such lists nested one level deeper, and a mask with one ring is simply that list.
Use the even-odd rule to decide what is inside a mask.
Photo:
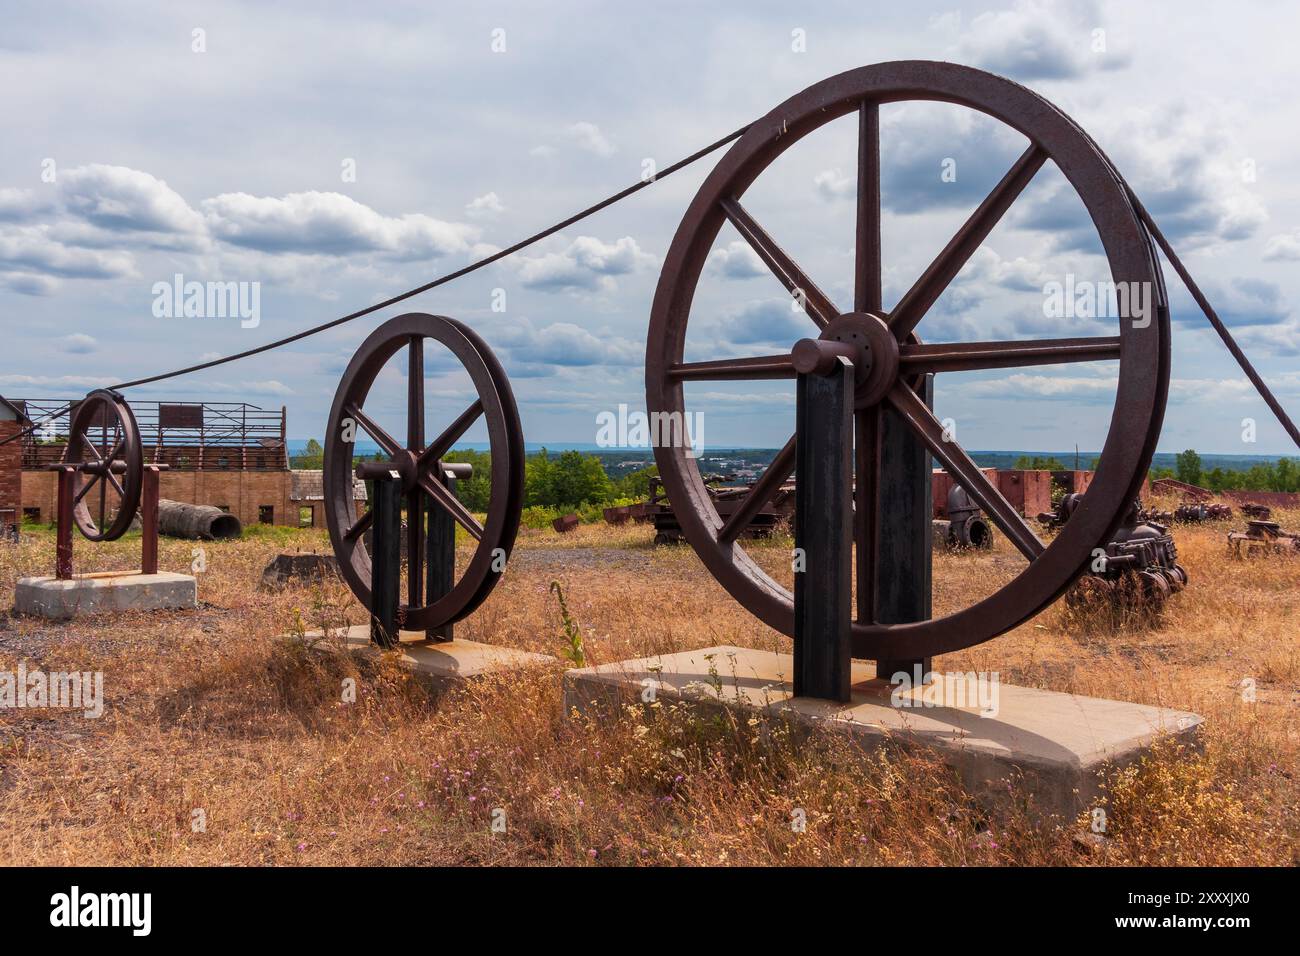
[{"label": "dry golden-brown grass covering the ground around the wheels", "polygon": [[[1205,715],[1201,753],[1161,747],[1115,775],[1098,853],[1078,852],[1072,827],[983,814],[923,754],[868,756],[831,734],[794,745],[781,726],[673,706],[588,723],[563,713],[560,665],[429,700],[390,665],[313,653],[281,635],[296,620],[360,622],[346,588],[256,588],[276,551],[328,551],[307,531],[205,545],[198,613],[0,619],[0,670],[101,670],[108,697],[98,721],[0,710],[0,862],[1295,862],[1300,561],[1228,561],[1227,527],[1176,531],[1192,585],[1150,627],[1080,622],[1058,604],[937,662]],[[549,593],[559,580],[589,663],[711,644],[789,650],[689,548],[655,549],[651,536],[524,532],[503,584],[459,633],[560,656]],[[788,546],[757,549],[776,576]],[[162,567],[186,570],[192,548],[164,541]],[[49,535],[0,546],[0,606],[52,559]],[[1017,561],[1005,542],[937,557],[936,611],[989,593]],[[138,542],[78,540],[77,562],[129,568]],[[344,678],[355,704],[341,700]],[[491,830],[498,808],[503,834]],[[205,831],[192,830],[195,810]]]}]

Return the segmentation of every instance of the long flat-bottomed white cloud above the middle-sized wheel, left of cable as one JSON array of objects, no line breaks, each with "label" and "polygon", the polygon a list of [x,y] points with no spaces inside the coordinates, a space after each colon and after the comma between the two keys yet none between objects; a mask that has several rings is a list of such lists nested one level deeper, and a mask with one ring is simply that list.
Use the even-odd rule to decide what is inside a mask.
[{"label": "long flat-bottomed white cloud above the middle-sized wheel, left of cable", "polygon": [[384,216],[341,193],[252,196],[224,193],[203,202],[212,234],[263,252],[351,255],[380,252],[393,259],[434,259],[464,252],[472,226],[408,213]]}]

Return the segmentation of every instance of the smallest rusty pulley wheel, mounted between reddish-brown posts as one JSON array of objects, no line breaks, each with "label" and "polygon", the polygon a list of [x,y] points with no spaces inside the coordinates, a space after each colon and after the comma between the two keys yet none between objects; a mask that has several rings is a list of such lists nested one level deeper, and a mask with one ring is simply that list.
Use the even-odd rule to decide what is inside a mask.
[{"label": "smallest rusty pulley wheel, mounted between reddish-brown posts", "polygon": [[140,510],[144,451],[135,415],[121,394],[96,389],[77,403],[62,462],[77,466],[73,520],[81,533],[90,541],[125,535]]}]

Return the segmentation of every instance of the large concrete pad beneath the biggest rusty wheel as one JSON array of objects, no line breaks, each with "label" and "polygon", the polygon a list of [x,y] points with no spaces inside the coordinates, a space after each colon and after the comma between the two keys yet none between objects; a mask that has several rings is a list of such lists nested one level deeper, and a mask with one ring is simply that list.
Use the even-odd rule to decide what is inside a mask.
[{"label": "large concrete pad beneath the biggest rusty wheel", "polygon": [[[1182,710],[997,684],[996,711],[984,715],[967,696],[963,706],[923,706],[942,691],[961,701],[963,682],[939,675],[935,685],[894,695],[875,679],[875,665],[853,662],[849,704],[793,696],[789,654],[716,646],[571,670],[564,709],[611,713],[642,698],[654,682],[658,700],[697,701],[792,719],[796,726],[842,730],[867,747],[887,740],[924,745],[952,766],[985,805],[1000,804],[1006,780],[1019,780],[1045,814],[1074,817],[1100,795],[1098,771],[1139,758],[1160,734],[1195,740],[1201,718]],[[911,706],[905,706],[910,702]]]}]

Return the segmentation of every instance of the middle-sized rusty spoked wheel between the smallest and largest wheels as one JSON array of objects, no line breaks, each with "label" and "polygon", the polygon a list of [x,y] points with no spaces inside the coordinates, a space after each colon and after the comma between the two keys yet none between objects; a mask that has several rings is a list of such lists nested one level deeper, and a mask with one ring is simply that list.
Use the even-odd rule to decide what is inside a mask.
[{"label": "middle-sized rusty spoked wheel between the smallest and largest wheels", "polygon": [[[432,442],[424,438],[424,345],[442,343],[469,373],[477,397]],[[376,376],[398,351],[408,351],[407,433],[400,442],[365,411],[365,398]],[[491,490],[488,518],[478,520],[442,483],[441,462],[480,418],[488,424],[491,450]],[[506,558],[519,533],[524,502],[524,432],[506,371],[497,356],[469,326],[446,316],[410,312],[386,321],[361,343],[352,356],[330,407],[326,425],[324,496],[325,522],[338,557],[339,571],[352,593],[370,606],[370,555],[364,535],[370,511],[356,514],[354,501],[354,441],[365,432],[390,459],[399,464],[406,498],[407,601],[400,609],[402,627],[424,630],[460,620],[482,604],[500,579]],[[473,558],[445,596],[425,604],[425,527],[421,515],[430,507],[446,510],[478,541]],[[410,516],[416,516],[411,520]]]}]

